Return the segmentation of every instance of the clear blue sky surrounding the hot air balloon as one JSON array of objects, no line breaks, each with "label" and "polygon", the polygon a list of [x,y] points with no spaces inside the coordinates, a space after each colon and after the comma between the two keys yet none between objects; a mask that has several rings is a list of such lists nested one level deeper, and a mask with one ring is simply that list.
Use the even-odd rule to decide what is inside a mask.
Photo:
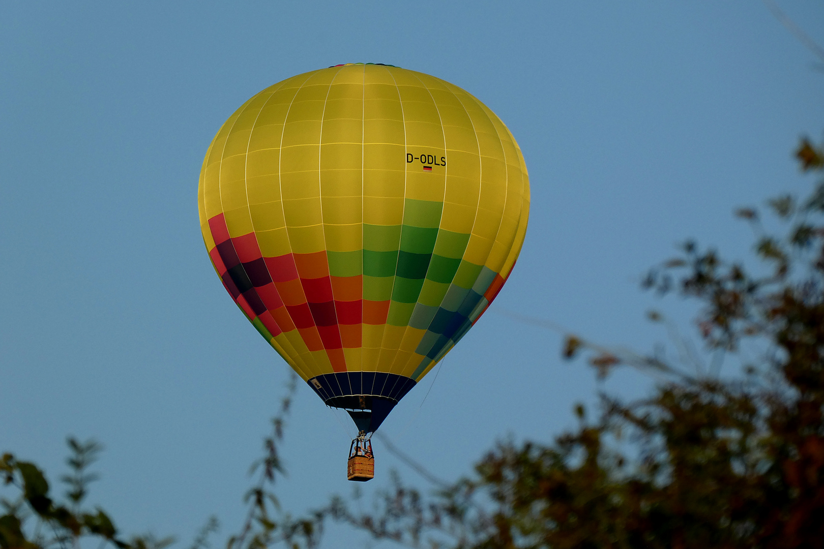
[{"label": "clear blue sky surrounding the hot air balloon", "polygon": [[[821,2],[779,5],[824,43]],[[251,95],[357,62],[470,91],[530,171],[507,286],[382,426],[447,478],[494,440],[550,440],[599,388],[647,384],[599,386],[561,361],[559,333],[503,309],[605,344],[666,342],[644,311],[691,309],[643,294],[641,274],[687,237],[742,257],[733,208],[808,188],[791,153],[824,130],[824,72],[762,2],[2,2],[0,450],[56,479],[65,436],[93,436],[107,449],[91,500],[126,532],[188,542],[210,514],[221,536],[237,528],[287,366],[211,268],[200,165]],[[349,494],[353,434],[298,389],[285,506]],[[365,493],[391,468],[425,486],[376,452]]]}]

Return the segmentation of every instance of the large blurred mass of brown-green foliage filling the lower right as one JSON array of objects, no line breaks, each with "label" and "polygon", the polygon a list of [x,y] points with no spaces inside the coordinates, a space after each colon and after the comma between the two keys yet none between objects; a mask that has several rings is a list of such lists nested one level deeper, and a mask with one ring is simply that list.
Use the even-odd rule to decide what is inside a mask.
[{"label": "large blurred mass of brown-green foliage filling the lower right", "polygon": [[[822,147],[804,139],[796,156],[824,174]],[[602,394],[596,421],[579,405],[576,430],[502,442],[434,495],[396,479],[375,514],[341,498],[329,512],[412,547],[824,547],[824,179],[768,207],[781,238],[758,209],[736,212],[756,230],[763,274],[687,242],[644,278],[701,306],[705,353],[679,340],[673,362],[566,337],[562,355],[588,355],[599,375],[653,373],[647,398]],[[724,355],[742,371],[720,376]]]}]

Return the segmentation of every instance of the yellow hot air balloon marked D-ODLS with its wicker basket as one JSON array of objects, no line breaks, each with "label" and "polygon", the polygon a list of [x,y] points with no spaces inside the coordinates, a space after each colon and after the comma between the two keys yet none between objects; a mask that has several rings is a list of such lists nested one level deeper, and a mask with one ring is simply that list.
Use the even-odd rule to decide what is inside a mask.
[{"label": "yellow hot air balloon marked D-ODLS with its wicker basket", "polygon": [[198,204],[223,286],[323,402],[352,416],[349,477],[368,480],[366,435],[512,272],[529,181],[512,133],[473,95],[347,63],[241,105],[208,147]]}]

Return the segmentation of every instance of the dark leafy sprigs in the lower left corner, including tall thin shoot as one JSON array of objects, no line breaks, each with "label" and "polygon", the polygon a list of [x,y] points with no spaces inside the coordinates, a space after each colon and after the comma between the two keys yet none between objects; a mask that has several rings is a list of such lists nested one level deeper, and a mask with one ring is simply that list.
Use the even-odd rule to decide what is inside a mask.
[{"label": "dark leafy sprigs in the lower left corner, including tall thin shoot", "polygon": [[[244,498],[249,510],[239,533],[226,542],[227,549],[261,549],[282,545],[298,549],[316,547],[323,531],[324,512],[293,518],[280,508],[274,495],[277,475],[283,474],[278,446],[283,440],[292,398],[297,389],[297,376],[292,374],[287,393],[272,418],[272,432],[264,439],[262,458],[255,461],[250,475],[258,475]],[[58,504],[50,493],[49,482],[34,463],[17,460],[3,454],[0,473],[4,485],[17,489],[16,498],[0,499],[0,549],[68,549],[82,547],[87,539],[98,542],[98,549],[112,544],[118,549],[164,549],[175,542],[174,537],[158,538],[152,534],[125,540],[109,515],[100,507],[93,511],[83,505],[91,482],[97,480],[89,467],[100,453],[101,444],[94,440],[80,442],[68,439],[70,455],[66,459],[70,474],[61,477],[68,486],[67,501]],[[218,519],[210,517],[194,538],[190,549],[207,549],[210,537],[218,530]]]}]

